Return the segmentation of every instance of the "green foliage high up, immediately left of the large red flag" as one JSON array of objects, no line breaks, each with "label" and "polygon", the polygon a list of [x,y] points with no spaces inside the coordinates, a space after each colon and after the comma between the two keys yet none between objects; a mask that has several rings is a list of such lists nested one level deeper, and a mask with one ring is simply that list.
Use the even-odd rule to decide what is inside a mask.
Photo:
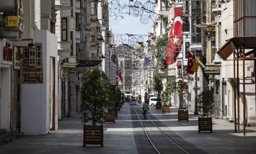
[{"label": "green foliage high up, immediately left of the large red flag", "polygon": [[155,57],[158,60],[158,66],[162,72],[167,72],[168,67],[164,65],[164,59],[166,54],[166,47],[168,42],[168,33],[162,34],[158,40],[156,40]]}]

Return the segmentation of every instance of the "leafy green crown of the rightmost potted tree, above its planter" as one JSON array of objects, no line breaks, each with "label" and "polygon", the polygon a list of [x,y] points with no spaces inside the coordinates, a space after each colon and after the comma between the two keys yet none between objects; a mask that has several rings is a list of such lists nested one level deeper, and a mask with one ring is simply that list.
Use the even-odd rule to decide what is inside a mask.
[{"label": "leafy green crown of the rightmost potted tree, above its planter", "polygon": [[214,104],[214,91],[205,89],[198,94],[198,110],[201,112],[202,117],[208,117],[210,115],[210,110],[213,108]]}]

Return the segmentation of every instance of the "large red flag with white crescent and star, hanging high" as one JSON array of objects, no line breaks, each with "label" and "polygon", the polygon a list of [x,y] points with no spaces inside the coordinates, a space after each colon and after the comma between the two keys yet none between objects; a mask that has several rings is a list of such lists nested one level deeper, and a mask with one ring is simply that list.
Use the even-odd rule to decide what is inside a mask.
[{"label": "large red flag with white crescent and star, hanging high", "polygon": [[166,66],[176,62],[176,58],[181,51],[183,42],[183,21],[181,20],[182,9],[183,7],[174,7],[174,20],[172,22],[172,27],[170,28],[170,35],[164,59],[164,64]]}]

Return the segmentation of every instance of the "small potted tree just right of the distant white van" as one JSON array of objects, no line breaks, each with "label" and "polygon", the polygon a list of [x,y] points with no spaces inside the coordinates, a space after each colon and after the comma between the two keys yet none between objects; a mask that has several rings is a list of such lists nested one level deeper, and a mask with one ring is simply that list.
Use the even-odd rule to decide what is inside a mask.
[{"label": "small potted tree just right of the distant white van", "polygon": [[156,73],[154,75],[153,78],[153,90],[156,91],[156,97],[158,98],[158,102],[156,102],[156,109],[161,109],[162,108],[162,104],[160,101],[160,96],[161,96],[161,92],[164,88],[164,86],[162,85],[162,74],[160,73]]}]

